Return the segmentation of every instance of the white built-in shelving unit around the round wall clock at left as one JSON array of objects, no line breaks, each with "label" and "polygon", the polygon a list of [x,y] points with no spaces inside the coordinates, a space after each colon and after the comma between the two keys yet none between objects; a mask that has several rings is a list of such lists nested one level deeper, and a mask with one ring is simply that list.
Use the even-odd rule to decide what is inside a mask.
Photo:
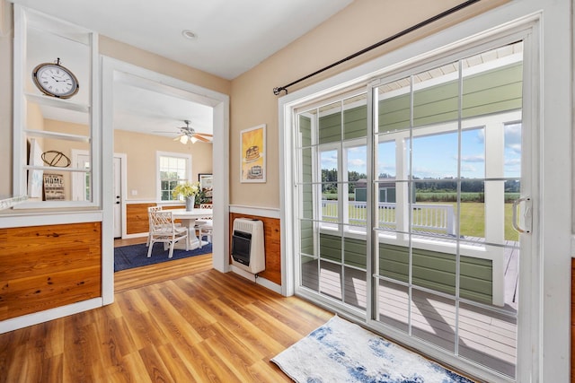
[{"label": "white built-in shelving unit around the round wall clock at left", "polygon": [[[93,100],[99,97],[94,85],[98,84],[98,36],[19,4],[13,10],[13,196],[26,196],[13,209],[97,207],[101,198],[94,180],[101,174],[101,135]],[[32,79],[37,65],[58,60],[78,79],[79,91],[70,99],[44,94]],[[88,159],[76,161],[74,150],[89,152]],[[71,163],[50,166],[44,161],[46,152],[61,152]],[[61,176],[62,190],[47,193],[43,186],[47,174]]]}]

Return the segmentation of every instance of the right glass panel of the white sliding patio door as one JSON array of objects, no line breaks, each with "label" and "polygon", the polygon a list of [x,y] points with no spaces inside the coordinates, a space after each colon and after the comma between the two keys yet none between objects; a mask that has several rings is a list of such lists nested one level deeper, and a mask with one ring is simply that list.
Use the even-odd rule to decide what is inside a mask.
[{"label": "right glass panel of the white sliding patio door", "polygon": [[[513,57],[503,59],[503,51]],[[520,52],[520,43],[494,49],[413,74],[402,94],[390,97],[382,90],[388,84],[375,92],[377,116],[405,113],[410,105],[403,120],[411,122],[409,131],[385,130],[385,141],[381,129],[375,131],[380,195],[383,164],[394,158],[396,170],[395,226],[377,221],[374,228],[376,318],[511,378],[519,244],[510,207],[522,170]],[[384,199],[376,197],[378,204]],[[379,213],[380,206],[372,208]]]}]

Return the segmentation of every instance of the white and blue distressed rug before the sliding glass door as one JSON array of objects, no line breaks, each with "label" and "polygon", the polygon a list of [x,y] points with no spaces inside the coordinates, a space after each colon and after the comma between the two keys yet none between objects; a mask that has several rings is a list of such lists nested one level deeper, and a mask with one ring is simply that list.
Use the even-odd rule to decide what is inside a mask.
[{"label": "white and blue distressed rug before the sliding glass door", "polygon": [[472,383],[337,316],[271,361],[300,383]]}]

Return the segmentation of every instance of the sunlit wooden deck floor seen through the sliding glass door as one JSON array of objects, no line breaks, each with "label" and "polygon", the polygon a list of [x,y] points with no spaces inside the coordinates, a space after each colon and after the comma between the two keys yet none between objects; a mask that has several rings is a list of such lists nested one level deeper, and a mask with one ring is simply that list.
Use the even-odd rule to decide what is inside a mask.
[{"label": "sunlit wooden deck floor seen through the sliding glass door", "polygon": [[[436,344],[452,353],[479,362],[493,370],[515,376],[517,355],[517,270],[518,247],[509,243],[505,250],[505,309],[508,315],[460,303],[406,286],[380,281],[379,320],[389,326]],[[314,291],[366,309],[366,272],[331,262],[315,262],[302,267],[302,283]],[[343,288],[342,288],[343,286]],[[457,340],[456,340],[457,339]],[[456,350],[457,343],[457,350]]]}]

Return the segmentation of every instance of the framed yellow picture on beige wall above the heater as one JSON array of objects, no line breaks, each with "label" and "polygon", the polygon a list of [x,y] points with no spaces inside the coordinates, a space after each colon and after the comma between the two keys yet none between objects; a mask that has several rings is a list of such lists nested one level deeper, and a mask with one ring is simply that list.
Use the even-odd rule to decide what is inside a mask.
[{"label": "framed yellow picture on beige wall above the heater", "polygon": [[266,181],[266,126],[254,126],[240,132],[240,182]]}]

